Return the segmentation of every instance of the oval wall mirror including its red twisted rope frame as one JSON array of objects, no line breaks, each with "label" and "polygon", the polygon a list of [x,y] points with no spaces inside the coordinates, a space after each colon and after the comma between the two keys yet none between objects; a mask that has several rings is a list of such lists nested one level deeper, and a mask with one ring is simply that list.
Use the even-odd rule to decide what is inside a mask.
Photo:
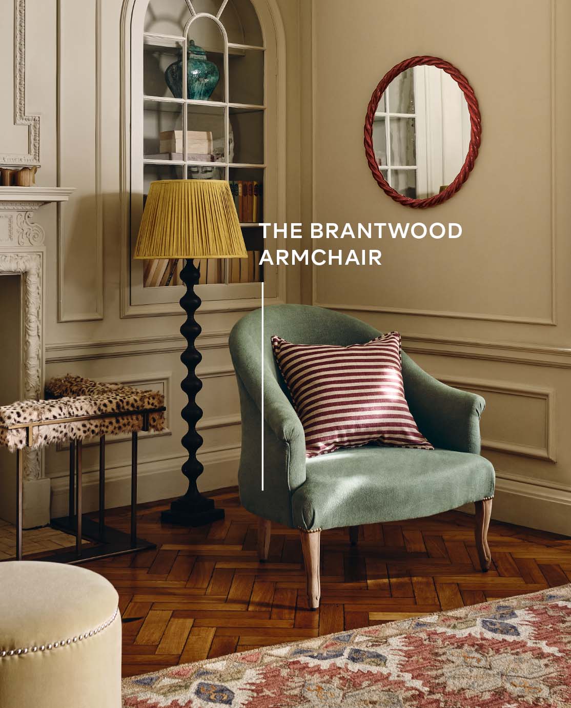
[{"label": "oval wall mirror including its red twisted rope frame", "polygon": [[456,67],[437,57],[400,62],[379,82],[367,110],[367,161],[381,189],[424,208],[468,179],[481,139],[478,101]]}]

